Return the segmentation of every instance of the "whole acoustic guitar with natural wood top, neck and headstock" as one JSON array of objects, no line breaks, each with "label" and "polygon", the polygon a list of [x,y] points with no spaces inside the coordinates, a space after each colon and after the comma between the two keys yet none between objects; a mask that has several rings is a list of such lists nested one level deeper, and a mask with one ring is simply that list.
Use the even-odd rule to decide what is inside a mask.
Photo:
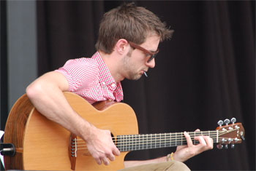
[{"label": "whole acoustic guitar with natural wood top, neck and headstock", "polygon": [[[6,170],[119,170],[124,168],[129,151],[187,144],[183,132],[139,135],[135,112],[125,103],[105,101],[91,106],[71,92],[64,95],[80,116],[100,129],[110,130],[120,156],[108,166],[98,165],[81,138],[39,114],[23,95],[12,107],[5,127],[4,143],[15,147],[15,154],[4,156]],[[214,143],[233,145],[241,143],[244,128],[241,123],[220,124],[217,130],[189,135],[195,144],[195,136],[208,135]]]}]

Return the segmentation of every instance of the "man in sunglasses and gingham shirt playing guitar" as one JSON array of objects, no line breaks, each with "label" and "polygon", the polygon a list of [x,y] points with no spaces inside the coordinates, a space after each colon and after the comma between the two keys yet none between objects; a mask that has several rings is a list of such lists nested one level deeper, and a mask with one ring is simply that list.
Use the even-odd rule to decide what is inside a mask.
[{"label": "man in sunglasses and gingham shirt playing guitar", "polygon": [[[63,92],[75,92],[91,104],[102,100],[121,101],[120,81],[140,79],[148,68],[154,68],[159,41],[169,39],[172,32],[147,9],[123,4],[105,13],[99,27],[97,52],[91,58],[67,61],[59,70],[45,73],[32,82],[26,93],[41,114],[83,138],[97,164],[108,165],[120,154],[110,131],[100,130],[81,118],[69,106]],[[181,162],[213,148],[213,140],[196,137],[200,143],[194,146],[187,132],[184,136],[188,145],[179,146],[174,154],[124,162],[128,167],[124,170],[189,170]]]}]

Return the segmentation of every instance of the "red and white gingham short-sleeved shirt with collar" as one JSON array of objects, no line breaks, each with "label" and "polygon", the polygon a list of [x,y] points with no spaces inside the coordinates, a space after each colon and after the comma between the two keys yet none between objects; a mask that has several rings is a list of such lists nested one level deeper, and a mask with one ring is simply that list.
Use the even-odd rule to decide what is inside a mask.
[{"label": "red and white gingham short-sleeved shirt with collar", "polygon": [[116,83],[99,52],[91,58],[68,60],[58,70],[69,83],[69,92],[74,92],[89,103],[102,100],[123,100],[121,82]]}]

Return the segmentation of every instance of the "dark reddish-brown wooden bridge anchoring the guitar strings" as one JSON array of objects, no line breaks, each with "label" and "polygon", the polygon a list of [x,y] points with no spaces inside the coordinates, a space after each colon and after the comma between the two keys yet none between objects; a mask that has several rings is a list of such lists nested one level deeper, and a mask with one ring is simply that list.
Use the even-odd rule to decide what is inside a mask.
[{"label": "dark reddish-brown wooden bridge anchoring the guitar strings", "polygon": [[77,151],[78,151],[77,136],[74,134],[71,134],[69,138],[69,159],[71,164],[71,170],[75,170]]}]

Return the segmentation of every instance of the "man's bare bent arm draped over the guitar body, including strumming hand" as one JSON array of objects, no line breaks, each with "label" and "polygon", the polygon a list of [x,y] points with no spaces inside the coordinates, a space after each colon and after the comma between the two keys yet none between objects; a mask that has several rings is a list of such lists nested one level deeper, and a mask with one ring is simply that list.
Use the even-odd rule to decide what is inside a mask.
[{"label": "man's bare bent arm draped over the guitar body, including strumming hand", "polygon": [[26,88],[26,94],[42,115],[83,138],[98,164],[109,164],[108,159],[113,161],[114,155],[120,154],[112,141],[110,131],[97,129],[69,106],[63,94],[68,88],[65,76],[52,71],[32,82]]}]

